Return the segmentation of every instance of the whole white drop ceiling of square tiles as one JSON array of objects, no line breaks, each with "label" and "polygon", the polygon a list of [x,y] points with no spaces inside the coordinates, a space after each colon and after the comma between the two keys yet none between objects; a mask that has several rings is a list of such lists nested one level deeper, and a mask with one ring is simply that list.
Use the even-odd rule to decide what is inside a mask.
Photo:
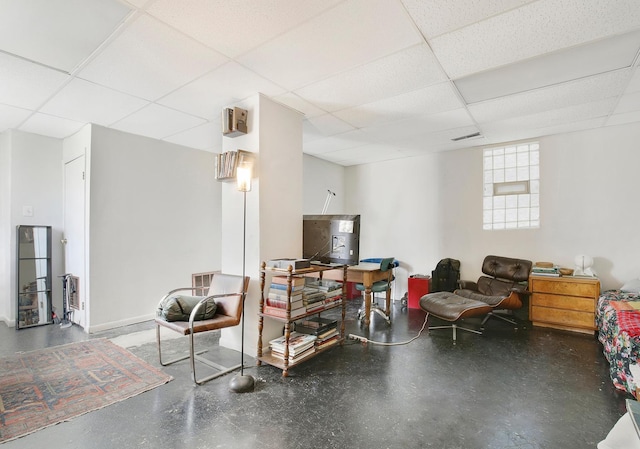
[{"label": "whole white drop ceiling of square tiles", "polygon": [[640,122],[639,51],[638,0],[0,0],[0,132],[219,152],[260,92],[349,166]]}]

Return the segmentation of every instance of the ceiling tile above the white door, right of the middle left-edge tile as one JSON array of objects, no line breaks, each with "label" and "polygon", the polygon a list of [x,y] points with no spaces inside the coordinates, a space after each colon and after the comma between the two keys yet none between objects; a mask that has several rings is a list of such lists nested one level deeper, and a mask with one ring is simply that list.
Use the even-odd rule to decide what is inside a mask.
[{"label": "ceiling tile above the white door, right of the middle left-edge tile", "polygon": [[145,100],[76,78],[41,111],[78,122],[109,126],[147,104]]}]

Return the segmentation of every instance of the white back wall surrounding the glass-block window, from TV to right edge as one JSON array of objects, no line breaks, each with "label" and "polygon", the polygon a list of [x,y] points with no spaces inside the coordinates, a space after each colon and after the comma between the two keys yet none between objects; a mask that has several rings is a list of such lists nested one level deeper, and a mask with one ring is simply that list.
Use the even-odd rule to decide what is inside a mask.
[{"label": "white back wall surrounding the glass-block window, from TV to right edge", "polygon": [[362,215],[361,256],[393,255],[402,263],[394,298],[407,290],[407,275],[430,274],[445,257],[461,261],[465,279],[480,275],[488,254],[569,267],[574,256],[588,254],[603,289],[640,276],[640,125],[538,141],[536,230],[482,230],[481,148],[347,168],[347,208]]}]

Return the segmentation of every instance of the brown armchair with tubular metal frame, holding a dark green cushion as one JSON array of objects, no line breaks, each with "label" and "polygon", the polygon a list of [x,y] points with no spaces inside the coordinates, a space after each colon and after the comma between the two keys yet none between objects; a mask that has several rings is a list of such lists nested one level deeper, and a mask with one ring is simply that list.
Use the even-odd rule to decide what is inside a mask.
[{"label": "brown armchair with tubular metal frame, holding a dark green cushion", "polygon": [[[234,365],[232,367],[225,367],[209,359],[200,357],[200,354],[206,352],[206,350],[196,352],[195,334],[238,325],[243,313],[242,297],[246,294],[248,287],[248,276],[245,276],[243,280],[242,276],[216,273],[211,279],[211,285],[209,286],[207,296],[203,296],[198,304],[193,308],[193,310],[191,311],[191,315],[189,316],[189,321],[167,321],[161,316],[156,316],[156,341],[158,344],[158,358],[160,361],[160,365],[167,366],[181,360],[190,359],[193,381],[196,383],[196,385],[202,385],[209,380],[215,379],[216,377],[220,377],[224,374],[230,373],[231,371],[239,369],[241,367],[240,364]],[[184,287],[171,290],[160,300],[159,306],[170,295],[181,291],[193,292],[193,290],[195,290],[195,287]],[[207,303],[207,301],[216,302],[216,314],[211,319],[195,321],[194,318],[197,316],[200,308],[203,307]],[[163,362],[162,345],[160,341],[161,326],[167,329],[171,329],[172,331],[178,332],[182,335],[188,335],[189,354],[173,360],[169,360],[167,362]],[[216,370],[218,370],[218,372],[210,376],[198,379],[196,376],[196,360],[204,363],[207,366],[215,368]]]}]

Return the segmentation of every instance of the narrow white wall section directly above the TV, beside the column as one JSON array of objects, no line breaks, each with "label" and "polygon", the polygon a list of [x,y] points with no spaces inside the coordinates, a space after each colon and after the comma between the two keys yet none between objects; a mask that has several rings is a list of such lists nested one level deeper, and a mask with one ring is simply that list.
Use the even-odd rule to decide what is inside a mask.
[{"label": "narrow white wall section directly above the TV, beside the column", "polygon": [[317,215],[322,213],[329,190],[335,195],[331,195],[327,214],[356,213],[344,208],[347,195],[344,187],[344,167],[308,154],[303,156],[302,178],[304,189],[302,208],[304,214]]}]

